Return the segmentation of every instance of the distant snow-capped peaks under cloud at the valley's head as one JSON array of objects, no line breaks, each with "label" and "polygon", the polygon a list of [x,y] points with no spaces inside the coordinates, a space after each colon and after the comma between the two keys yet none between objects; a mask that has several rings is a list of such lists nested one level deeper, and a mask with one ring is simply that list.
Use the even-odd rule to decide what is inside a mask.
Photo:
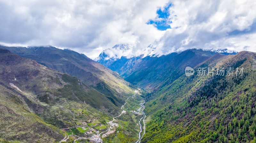
[{"label": "distant snow-capped peaks under cloud at the valley's head", "polygon": [[[172,47],[166,53],[161,53],[161,50],[157,49],[156,46],[150,44],[149,46],[143,49],[136,49],[134,45],[131,44],[118,44],[113,46],[112,48],[108,48],[100,53],[100,55],[94,60],[99,62],[100,64],[104,65],[107,68],[110,68],[114,71],[119,72],[119,74],[123,75],[124,71],[127,69],[132,69],[136,63],[140,63],[140,61],[146,57],[146,59],[165,59],[168,60],[170,55],[180,54],[182,52],[186,52],[188,49],[184,48],[175,48]],[[228,49],[198,49],[193,48],[192,50],[197,51],[200,53],[210,53],[209,56],[214,54],[236,54],[238,52],[234,50]],[[207,55],[207,54],[205,54]],[[164,60],[164,61],[165,61]],[[147,61],[147,60],[146,60]],[[145,61],[145,62],[146,62]],[[150,61],[150,60],[149,60]],[[135,66],[136,67],[136,66]]]}]

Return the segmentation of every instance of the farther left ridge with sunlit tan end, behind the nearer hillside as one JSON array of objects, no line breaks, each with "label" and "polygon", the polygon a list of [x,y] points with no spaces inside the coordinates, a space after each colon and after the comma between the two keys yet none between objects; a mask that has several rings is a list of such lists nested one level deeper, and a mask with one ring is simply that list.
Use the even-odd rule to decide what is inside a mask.
[{"label": "farther left ridge with sunlit tan end, behind the nearer hillside", "polygon": [[134,94],[135,88],[120,75],[91,60],[84,54],[72,50],[49,47],[7,47],[0,46],[21,57],[62,73],[78,77],[85,85],[97,90],[116,106],[121,107],[124,100]]}]

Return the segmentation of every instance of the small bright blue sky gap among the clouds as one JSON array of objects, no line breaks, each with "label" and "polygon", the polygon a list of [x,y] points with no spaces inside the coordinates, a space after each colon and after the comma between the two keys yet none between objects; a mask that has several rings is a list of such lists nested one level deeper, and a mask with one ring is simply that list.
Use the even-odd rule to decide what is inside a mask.
[{"label": "small bright blue sky gap among the clouds", "polygon": [[171,28],[169,25],[172,23],[172,21],[169,21],[168,17],[170,16],[169,13],[169,8],[171,7],[172,4],[167,4],[163,10],[159,8],[156,13],[158,14],[158,17],[155,18],[154,20],[149,20],[147,24],[152,24],[154,25],[158,30],[164,31],[166,29]]}]

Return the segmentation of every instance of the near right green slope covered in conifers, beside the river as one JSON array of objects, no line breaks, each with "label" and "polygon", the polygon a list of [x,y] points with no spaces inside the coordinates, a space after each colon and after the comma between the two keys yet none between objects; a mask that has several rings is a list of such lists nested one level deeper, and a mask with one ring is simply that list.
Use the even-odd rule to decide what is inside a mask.
[{"label": "near right green slope covered in conifers, beside the river", "polygon": [[[205,76],[182,75],[146,103],[142,143],[254,142],[256,135],[256,54],[217,54],[194,69],[207,68]],[[208,75],[208,67],[214,74]],[[225,75],[216,75],[217,68]],[[228,68],[234,75],[228,76]],[[244,68],[236,76],[236,68]],[[239,74],[239,73],[238,73]]]}]

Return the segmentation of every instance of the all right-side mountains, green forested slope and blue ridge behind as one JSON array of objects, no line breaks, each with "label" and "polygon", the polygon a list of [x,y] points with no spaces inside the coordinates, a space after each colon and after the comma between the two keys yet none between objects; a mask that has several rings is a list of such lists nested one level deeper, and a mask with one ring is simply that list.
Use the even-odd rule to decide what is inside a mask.
[{"label": "all right-side mountains, green forested slope and blue ridge behind", "polygon": [[[142,143],[256,142],[256,53],[194,48],[98,62],[148,91]],[[186,67],[207,70],[187,77]]]}]

